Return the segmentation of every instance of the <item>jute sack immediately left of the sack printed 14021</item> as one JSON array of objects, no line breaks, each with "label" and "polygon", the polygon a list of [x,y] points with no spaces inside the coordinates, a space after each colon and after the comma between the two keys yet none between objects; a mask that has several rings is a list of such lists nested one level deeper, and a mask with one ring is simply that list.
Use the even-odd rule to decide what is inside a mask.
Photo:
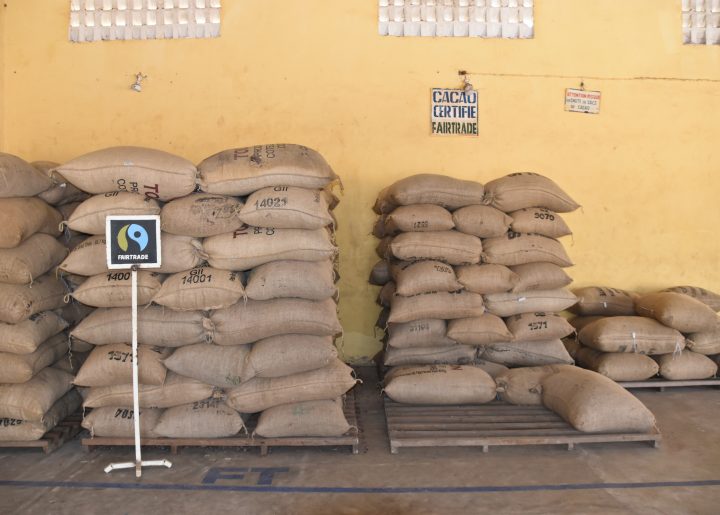
[{"label": "jute sack immediately left of the sack printed 14021", "polygon": [[232,232],[243,223],[243,203],[235,197],[212,193],[191,193],[168,202],[160,213],[162,230],[183,236],[205,238]]}]

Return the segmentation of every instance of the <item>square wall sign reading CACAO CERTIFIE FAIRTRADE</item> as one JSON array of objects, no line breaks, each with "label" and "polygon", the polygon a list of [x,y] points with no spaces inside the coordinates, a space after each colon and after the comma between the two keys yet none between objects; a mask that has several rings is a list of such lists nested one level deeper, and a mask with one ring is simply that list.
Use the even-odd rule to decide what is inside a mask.
[{"label": "square wall sign reading CACAO CERTIFIE FAIRTRADE", "polygon": [[477,91],[433,89],[431,134],[477,136]]}]

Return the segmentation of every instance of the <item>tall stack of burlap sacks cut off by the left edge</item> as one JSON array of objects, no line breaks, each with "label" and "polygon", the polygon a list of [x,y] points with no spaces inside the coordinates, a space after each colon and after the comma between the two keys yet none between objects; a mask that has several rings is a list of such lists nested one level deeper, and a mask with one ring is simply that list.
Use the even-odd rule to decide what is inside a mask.
[{"label": "tall stack of burlap sacks cut off by the left edge", "polygon": [[47,170],[0,154],[0,441],[39,440],[81,403],[55,268],[67,255],[59,210],[82,193]]}]

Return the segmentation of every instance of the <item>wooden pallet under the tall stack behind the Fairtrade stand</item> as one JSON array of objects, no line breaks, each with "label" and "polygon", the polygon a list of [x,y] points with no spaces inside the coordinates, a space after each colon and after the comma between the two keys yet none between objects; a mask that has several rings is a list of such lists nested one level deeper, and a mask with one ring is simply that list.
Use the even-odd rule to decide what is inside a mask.
[{"label": "wooden pallet under the tall stack behind the Fairtrade stand", "polygon": [[[360,427],[358,426],[357,406],[355,393],[350,391],[345,396],[343,404],[345,418],[352,427],[349,434],[334,437],[287,437],[263,438],[251,436],[257,425],[257,416],[251,417],[247,422],[247,434],[236,435],[229,438],[143,438],[143,447],[169,447],[172,454],[177,454],[180,447],[260,447],[260,454],[266,456],[270,447],[352,447],[352,453],[358,454],[360,448]],[[95,447],[133,447],[134,438],[95,437],[83,438],[81,444],[86,451]]]}]

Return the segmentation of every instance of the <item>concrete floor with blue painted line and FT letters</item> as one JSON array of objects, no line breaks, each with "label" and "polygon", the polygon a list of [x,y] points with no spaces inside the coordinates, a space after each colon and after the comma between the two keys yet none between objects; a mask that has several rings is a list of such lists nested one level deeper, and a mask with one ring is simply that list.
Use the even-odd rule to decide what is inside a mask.
[{"label": "concrete floor with blue painted line and FT letters", "polygon": [[[561,447],[401,449],[391,455],[377,381],[362,369],[364,444],[346,449],[185,449],[173,468],[103,472],[131,450],[45,456],[0,449],[0,513],[720,513],[720,390],[645,391],[664,441]],[[234,470],[232,470],[234,469]],[[239,469],[239,470],[238,470]],[[280,469],[274,474],[270,469]],[[230,476],[230,477],[228,477]],[[233,477],[234,476],[234,477]]]}]

